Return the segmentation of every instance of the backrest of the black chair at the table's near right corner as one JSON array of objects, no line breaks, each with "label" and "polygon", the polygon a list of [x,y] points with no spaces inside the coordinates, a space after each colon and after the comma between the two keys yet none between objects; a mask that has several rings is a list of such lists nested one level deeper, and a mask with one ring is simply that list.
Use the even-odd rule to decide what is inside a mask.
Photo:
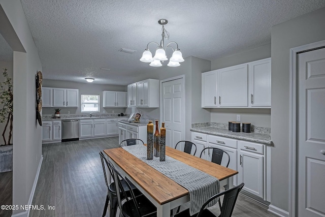
[{"label": "backrest of the black chair at the table's near right corner", "polygon": [[220,215],[219,217],[230,217],[232,216],[235,204],[236,204],[236,200],[238,197],[239,192],[242,190],[242,188],[244,187],[244,183],[241,183],[240,185],[229,189],[227,191],[221,192],[219,194],[216,194],[214,196],[212,196],[209,200],[207,200],[203,206],[200,209],[199,214],[197,215],[197,217],[204,217],[203,216],[203,211],[205,209],[205,207],[214,199],[223,196],[223,202],[222,202],[222,206],[221,206],[221,210],[220,210]]}]

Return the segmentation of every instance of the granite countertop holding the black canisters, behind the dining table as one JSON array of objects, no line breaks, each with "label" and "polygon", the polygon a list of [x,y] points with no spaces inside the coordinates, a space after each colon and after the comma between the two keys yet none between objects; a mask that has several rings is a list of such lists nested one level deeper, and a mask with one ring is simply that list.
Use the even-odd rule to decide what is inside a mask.
[{"label": "granite countertop holding the black canisters, behind the dining table", "polygon": [[190,131],[192,132],[199,132],[199,133],[205,133],[205,134],[211,134],[216,136],[223,136],[233,139],[239,139],[239,140],[245,140],[250,142],[257,142],[257,143],[263,143],[266,145],[273,145],[271,141],[270,134],[263,134],[263,133],[243,133],[243,132],[232,132],[228,129],[224,128],[217,128],[217,127],[200,127],[200,128],[191,128]]}]

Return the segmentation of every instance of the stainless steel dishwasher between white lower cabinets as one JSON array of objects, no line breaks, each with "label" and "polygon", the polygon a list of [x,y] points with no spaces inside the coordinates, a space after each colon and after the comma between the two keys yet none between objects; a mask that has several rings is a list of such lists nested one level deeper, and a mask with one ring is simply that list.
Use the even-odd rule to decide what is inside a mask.
[{"label": "stainless steel dishwasher between white lower cabinets", "polygon": [[62,142],[79,140],[79,119],[62,120]]}]

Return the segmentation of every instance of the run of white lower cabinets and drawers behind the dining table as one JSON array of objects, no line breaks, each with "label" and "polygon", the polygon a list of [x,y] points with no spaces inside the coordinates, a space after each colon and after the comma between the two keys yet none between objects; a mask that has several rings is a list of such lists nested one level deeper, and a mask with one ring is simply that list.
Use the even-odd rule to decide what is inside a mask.
[{"label": "run of white lower cabinets and drawers behind the dining table", "polygon": [[[192,132],[191,137],[192,142],[197,145],[197,157],[200,157],[205,147],[225,150],[230,155],[228,168],[238,171],[234,176],[234,185],[244,182],[244,192],[252,197],[270,201],[270,168],[267,167],[267,157],[270,158],[270,153],[267,152],[270,152],[270,149],[266,145],[198,132]],[[205,151],[202,159],[211,161],[211,151]],[[223,163],[225,162],[221,162],[221,165],[224,165]]]}]

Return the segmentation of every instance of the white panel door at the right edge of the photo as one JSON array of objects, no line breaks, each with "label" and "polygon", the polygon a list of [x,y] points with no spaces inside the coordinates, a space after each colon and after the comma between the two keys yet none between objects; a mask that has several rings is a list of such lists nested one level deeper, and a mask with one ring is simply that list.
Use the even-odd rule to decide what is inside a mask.
[{"label": "white panel door at the right edge of the photo", "polygon": [[298,216],[325,216],[325,48],[298,58]]}]

